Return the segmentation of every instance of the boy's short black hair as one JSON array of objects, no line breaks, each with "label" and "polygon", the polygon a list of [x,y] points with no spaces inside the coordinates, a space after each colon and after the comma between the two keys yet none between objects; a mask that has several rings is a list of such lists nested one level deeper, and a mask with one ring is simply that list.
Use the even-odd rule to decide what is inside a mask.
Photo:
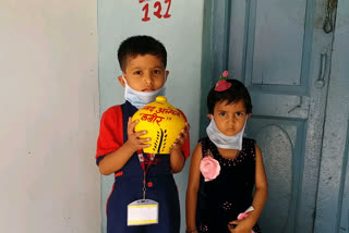
[{"label": "boy's short black hair", "polygon": [[118,60],[121,70],[124,72],[129,57],[135,58],[139,54],[152,54],[158,57],[166,69],[167,52],[165,46],[151,36],[132,36],[123,40],[118,50]]}]

